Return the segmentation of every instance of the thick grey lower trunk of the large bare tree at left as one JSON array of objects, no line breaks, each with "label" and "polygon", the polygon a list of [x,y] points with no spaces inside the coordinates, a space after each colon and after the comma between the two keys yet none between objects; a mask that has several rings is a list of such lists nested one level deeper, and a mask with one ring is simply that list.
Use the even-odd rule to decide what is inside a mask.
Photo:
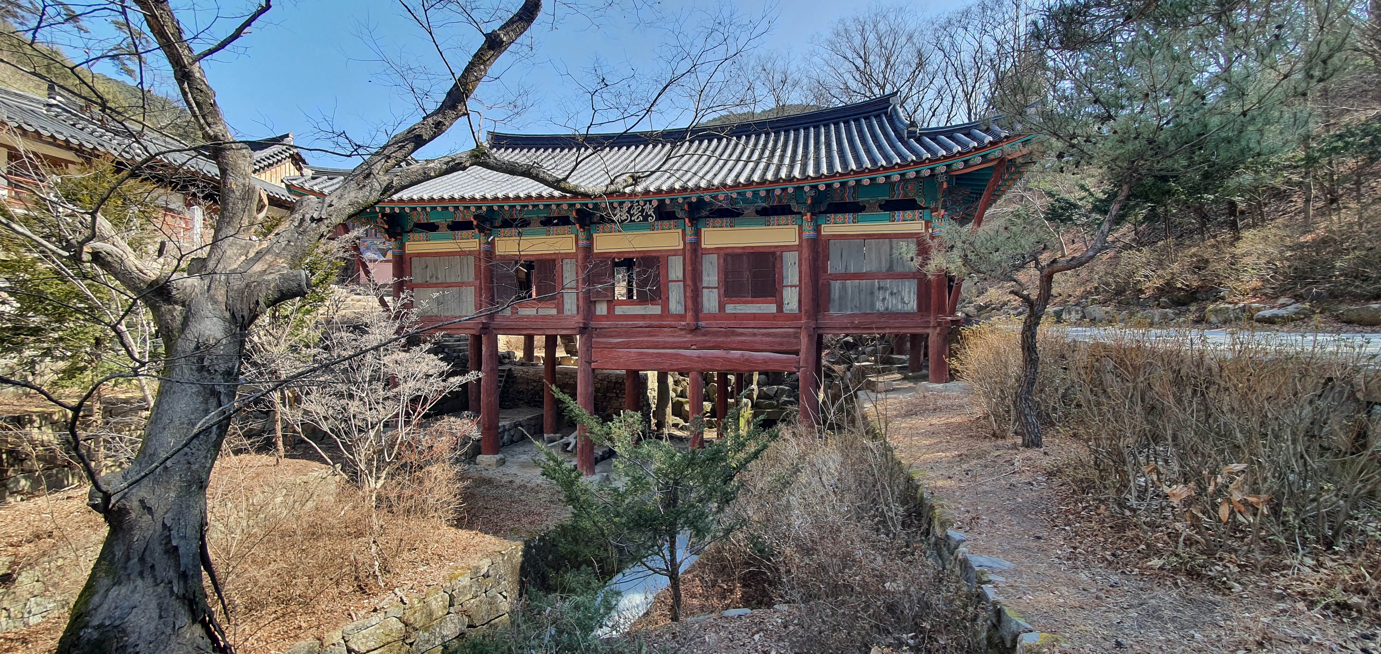
[{"label": "thick grey lower trunk of the large bare tree at left", "polygon": [[210,563],[203,549],[206,486],[229,421],[204,428],[173,454],[202,418],[235,400],[243,342],[235,326],[247,320],[231,317],[220,299],[193,301],[181,324],[160,324],[163,334],[181,327],[181,335],[168,352],[144,443],[126,470],[102,483],[115,488],[138,470],[153,473],[109,506],[93,490],[93,508],[104,513],[109,533],[72,606],[59,654],[231,651],[202,582],[203,562]]}]

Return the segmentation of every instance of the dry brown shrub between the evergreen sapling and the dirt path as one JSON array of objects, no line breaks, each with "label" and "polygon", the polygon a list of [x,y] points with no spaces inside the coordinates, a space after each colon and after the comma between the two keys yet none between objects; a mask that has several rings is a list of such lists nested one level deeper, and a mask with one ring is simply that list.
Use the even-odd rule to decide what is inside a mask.
[{"label": "dry brown shrub between the evergreen sapling and the dirt path", "polygon": [[771,562],[778,595],[813,625],[795,635],[804,651],[971,651],[976,607],[925,556],[918,493],[885,440],[784,429],[747,473],[729,546]]}]

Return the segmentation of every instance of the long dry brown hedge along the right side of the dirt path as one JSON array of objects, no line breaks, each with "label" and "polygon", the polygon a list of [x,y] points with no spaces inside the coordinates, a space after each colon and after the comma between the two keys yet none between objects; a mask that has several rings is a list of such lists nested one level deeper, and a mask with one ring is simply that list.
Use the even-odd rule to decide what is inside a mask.
[{"label": "long dry brown hedge along the right side of the dirt path", "polygon": [[[1066,468],[1156,531],[1167,562],[1288,555],[1313,567],[1375,549],[1381,371],[1374,355],[1298,335],[1051,331],[1040,342],[1043,419],[1087,448]],[[1003,433],[1016,331],[965,333],[958,367]],[[1362,564],[1363,559],[1353,559]],[[1199,566],[1203,564],[1200,560]],[[1353,592],[1373,595],[1371,575]]]}]

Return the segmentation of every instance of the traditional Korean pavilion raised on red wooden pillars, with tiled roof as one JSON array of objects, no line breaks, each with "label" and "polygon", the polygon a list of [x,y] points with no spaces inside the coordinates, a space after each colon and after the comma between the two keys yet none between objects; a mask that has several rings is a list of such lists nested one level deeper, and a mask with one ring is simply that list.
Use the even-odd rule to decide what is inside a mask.
[{"label": "traditional Korean pavilion raised on red wooden pillars, with tiled roof", "polygon": [[[483,454],[500,448],[499,334],[543,337],[548,382],[557,338],[579,337],[586,410],[594,370],[628,371],[631,389],[638,371],[692,373],[690,397],[702,396],[702,371],[789,371],[800,375],[802,419],[816,419],[823,334],[910,337],[913,370],[928,342],[929,379],[947,381],[958,287],[921,270],[932,229],[982,221],[1025,168],[1025,139],[996,121],[920,128],[895,95],[652,132],[496,132],[496,156],[577,184],[650,174],[588,199],[471,168],[407,189],[359,222],[370,229],[363,250],[391,262],[395,295],[412,291],[424,324],[479,337],[470,339],[470,364],[483,371],[471,407]],[[345,172],[315,168],[286,182],[323,195]],[[555,433],[550,390],[545,402]],[[576,459],[594,470],[588,439]]]}]

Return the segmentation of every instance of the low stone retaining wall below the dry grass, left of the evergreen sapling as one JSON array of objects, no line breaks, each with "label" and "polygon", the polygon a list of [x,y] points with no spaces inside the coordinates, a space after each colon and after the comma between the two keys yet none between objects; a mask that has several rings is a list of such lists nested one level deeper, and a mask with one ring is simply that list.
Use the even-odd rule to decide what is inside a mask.
[{"label": "low stone retaining wall below the dry grass, left of the evergreen sapling", "polygon": [[450,573],[421,593],[400,593],[374,614],[302,640],[286,654],[441,654],[481,629],[504,626],[518,608],[522,544]]}]

